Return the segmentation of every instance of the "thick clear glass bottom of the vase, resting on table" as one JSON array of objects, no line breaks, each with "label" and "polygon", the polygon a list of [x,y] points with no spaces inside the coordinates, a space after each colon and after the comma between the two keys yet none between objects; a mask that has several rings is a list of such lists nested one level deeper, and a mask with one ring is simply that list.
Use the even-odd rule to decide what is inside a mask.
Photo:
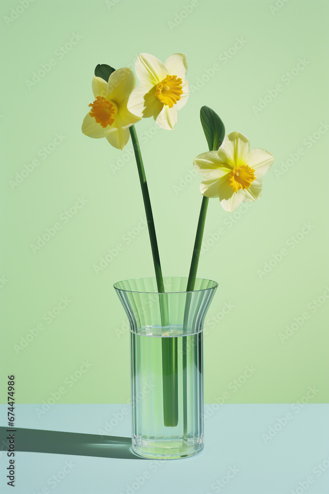
[{"label": "thick clear glass bottom of the vase, resting on table", "polygon": [[170,438],[170,440],[133,437],[132,449],[134,453],[144,458],[159,460],[174,460],[187,458],[200,453],[204,448],[203,438],[188,439]]}]

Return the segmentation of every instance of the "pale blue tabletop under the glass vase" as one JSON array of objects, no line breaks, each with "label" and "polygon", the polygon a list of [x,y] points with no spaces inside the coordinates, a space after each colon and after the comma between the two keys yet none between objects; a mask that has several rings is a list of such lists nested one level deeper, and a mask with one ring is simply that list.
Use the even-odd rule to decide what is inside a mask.
[{"label": "pale blue tabletop under the glass vase", "polygon": [[[130,437],[129,405],[17,405],[16,427],[30,434],[26,450],[68,448],[78,438],[83,454],[16,451],[15,488],[7,486],[8,460],[1,431],[0,492],[3,494],[328,494],[329,405],[206,405],[205,449],[191,458],[134,458],[113,436]],[[288,415],[287,415],[288,414]],[[6,407],[0,406],[6,426]],[[108,437],[93,437],[106,429]],[[74,435],[72,433],[79,433]],[[84,435],[82,435],[84,434]],[[34,440],[33,438],[37,438]],[[124,440],[121,440],[121,442]],[[54,443],[54,444],[53,444]],[[64,444],[65,443],[65,444]],[[112,443],[112,444],[110,444]],[[113,444],[114,443],[114,444]],[[31,445],[31,448],[29,447]],[[63,448],[62,448],[63,447]],[[76,447],[76,446],[75,446]],[[41,448],[42,450],[42,448]],[[42,450],[44,451],[44,449]],[[104,457],[109,454],[126,457]],[[123,452],[123,453],[122,453]],[[76,452],[75,452],[76,453]],[[90,456],[89,454],[93,454]]]}]

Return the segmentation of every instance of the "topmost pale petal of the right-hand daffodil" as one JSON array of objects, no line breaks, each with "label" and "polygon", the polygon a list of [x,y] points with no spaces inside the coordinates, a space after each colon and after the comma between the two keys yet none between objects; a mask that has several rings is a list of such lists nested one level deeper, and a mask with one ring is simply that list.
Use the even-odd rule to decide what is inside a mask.
[{"label": "topmost pale petal of the right-hand daffodil", "polygon": [[218,150],[219,158],[231,168],[247,162],[250,149],[249,139],[241,132],[231,132]]}]

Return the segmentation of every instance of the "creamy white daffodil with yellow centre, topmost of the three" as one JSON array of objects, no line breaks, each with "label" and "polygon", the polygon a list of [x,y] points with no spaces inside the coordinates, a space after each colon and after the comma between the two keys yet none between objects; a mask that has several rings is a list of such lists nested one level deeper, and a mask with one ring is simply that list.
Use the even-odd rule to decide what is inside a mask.
[{"label": "creamy white daffodil with yellow centre, topmost of the three", "polygon": [[165,63],[141,53],[135,63],[140,83],[129,97],[128,109],[142,118],[153,117],[160,127],[172,130],[189,93],[186,71],[187,59],[182,53],[174,53]]}]

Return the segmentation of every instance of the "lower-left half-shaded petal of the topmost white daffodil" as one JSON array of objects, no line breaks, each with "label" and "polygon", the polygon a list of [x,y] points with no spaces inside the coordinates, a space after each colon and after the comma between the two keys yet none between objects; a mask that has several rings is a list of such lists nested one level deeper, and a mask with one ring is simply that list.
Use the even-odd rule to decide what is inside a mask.
[{"label": "lower-left half-shaded petal of the topmost white daffodil", "polygon": [[138,117],[157,117],[163,108],[163,103],[155,96],[155,86],[139,84],[129,96],[128,110]]}]

